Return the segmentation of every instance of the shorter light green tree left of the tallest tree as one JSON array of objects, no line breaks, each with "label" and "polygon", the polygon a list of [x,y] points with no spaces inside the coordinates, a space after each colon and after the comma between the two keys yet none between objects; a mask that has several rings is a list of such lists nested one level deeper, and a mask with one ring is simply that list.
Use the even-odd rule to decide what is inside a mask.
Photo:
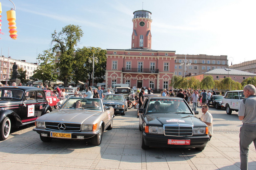
[{"label": "shorter light green tree left of the tallest tree", "polygon": [[35,70],[34,78],[43,80],[43,82],[48,81],[50,85],[51,80],[56,80],[57,74],[54,74],[55,70],[55,56],[50,50],[45,50],[43,54],[39,54],[37,59],[39,60],[39,67]]}]

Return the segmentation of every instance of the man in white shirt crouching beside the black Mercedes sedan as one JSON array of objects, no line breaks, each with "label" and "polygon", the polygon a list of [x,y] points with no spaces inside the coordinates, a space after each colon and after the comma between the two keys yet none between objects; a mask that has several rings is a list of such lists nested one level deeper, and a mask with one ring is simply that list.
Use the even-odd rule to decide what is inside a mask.
[{"label": "man in white shirt crouching beside the black Mercedes sedan", "polygon": [[[212,128],[212,125],[213,125],[213,119],[212,119],[212,116],[211,116],[211,113],[208,112],[208,109],[209,107],[207,105],[203,105],[202,106],[202,116],[200,117],[200,119],[208,126],[208,135],[210,136],[210,139],[211,139],[211,136],[212,136],[212,132],[213,132],[213,128]],[[209,141],[210,141],[209,139]]]}]

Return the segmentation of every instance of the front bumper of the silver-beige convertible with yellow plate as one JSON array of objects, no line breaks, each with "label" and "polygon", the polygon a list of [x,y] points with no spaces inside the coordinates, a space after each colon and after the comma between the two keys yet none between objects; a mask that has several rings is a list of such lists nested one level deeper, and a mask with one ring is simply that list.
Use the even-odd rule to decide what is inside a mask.
[{"label": "front bumper of the silver-beige convertible with yellow plate", "polygon": [[96,134],[99,133],[99,130],[96,130],[94,132],[81,132],[81,131],[74,132],[74,131],[47,130],[47,129],[40,129],[40,128],[34,128],[33,131],[36,131],[40,135],[41,135],[41,133],[46,133],[47,137],[50,137],[50,132],[71,133],[71,138],[62,138],[62,139],[78,139],[77,136],[83,136],[83,139],[88,139],[88,138],[94,137]]}]

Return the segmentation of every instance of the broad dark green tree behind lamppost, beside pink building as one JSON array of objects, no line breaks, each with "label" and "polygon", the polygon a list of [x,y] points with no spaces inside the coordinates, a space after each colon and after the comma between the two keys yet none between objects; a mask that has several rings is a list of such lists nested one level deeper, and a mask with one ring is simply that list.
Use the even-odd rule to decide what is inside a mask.
[{"label": "broad dark green tree behind lamppost, beside pink building", "polygon": [[103,76],[106,73],[107,51],[98,47],[83,47],[82,49],[78,49],[74,58],[75,62],[73,65],[73,80],[75,82],[78,80],[88,80],[89,85],[91,85],[93,63],[89,63],[89,57],[93,56],[93,53],[94,56],[98,58],[98,63],[94,63],[94,82],[98,83],[103,81]]}]

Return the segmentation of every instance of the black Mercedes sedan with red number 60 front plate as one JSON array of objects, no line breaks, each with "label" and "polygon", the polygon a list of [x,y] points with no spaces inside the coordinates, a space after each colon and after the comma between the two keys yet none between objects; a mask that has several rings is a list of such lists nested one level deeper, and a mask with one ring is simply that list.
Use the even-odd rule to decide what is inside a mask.
[{"label": "black Mercedes sedan with red number 60 front plate", "polygon": [[149,97],[139,108],[141,148],[196,148],[202,151],[209,141],[207,125],[195,117],[180,97]]}]

